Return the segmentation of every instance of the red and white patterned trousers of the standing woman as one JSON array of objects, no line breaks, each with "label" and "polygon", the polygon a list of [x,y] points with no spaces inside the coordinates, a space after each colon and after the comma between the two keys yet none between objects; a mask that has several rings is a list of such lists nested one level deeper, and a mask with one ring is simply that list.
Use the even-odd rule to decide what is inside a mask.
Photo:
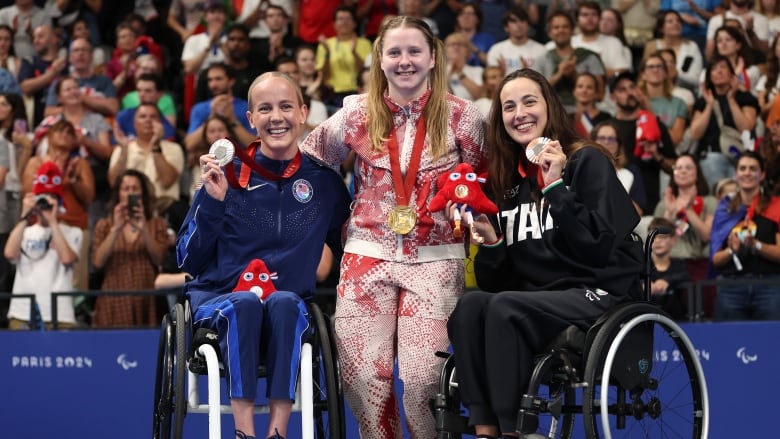
[{"label": "red and white patterned trousers of the standing woman", "polygon": [[463,293],[463,261],[419,264],[347,253],[336,302],[336,346],[345,396],[363,439],[401,439],[393,385],[397,355],[412,439],[436,436],[428,400],[449,345],[447,319]]}]

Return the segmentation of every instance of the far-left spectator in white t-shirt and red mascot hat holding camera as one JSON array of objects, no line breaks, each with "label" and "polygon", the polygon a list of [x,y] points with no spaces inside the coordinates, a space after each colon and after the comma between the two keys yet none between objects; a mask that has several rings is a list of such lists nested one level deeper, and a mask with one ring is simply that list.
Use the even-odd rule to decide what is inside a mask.
[{"label": "far-left spectator in white t-shirt and red mascot hat holding camera", "polygon": [[[33,293],[40,317],[47,327],[52,320],[52,291],[73,290],[73,267],[78,261],[82,231],[59,221],[64,200],[63,174],[59,166],[46,161],[35,168],[32,189],[22,200],[21,220],[5,244],[6,259],[16,265],[13,292]],[[9,329],[30,329],[31,303],[13,299],[8,311]],[[72,297],[57,301],[60,327],[74,327]]]}]

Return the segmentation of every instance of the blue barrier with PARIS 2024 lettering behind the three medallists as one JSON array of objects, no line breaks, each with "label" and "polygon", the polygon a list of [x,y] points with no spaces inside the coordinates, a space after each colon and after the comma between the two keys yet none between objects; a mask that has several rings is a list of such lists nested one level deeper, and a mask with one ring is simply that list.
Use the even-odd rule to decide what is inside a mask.
[{"label": "blue barrier with PARIS 2024 lettering behind the three medallists", "polygon": [[[683,328],[700,351],[707,377],[710,437],[774,437],[780,322]],[[157,330],[0,331],[0,436],[151,437],[158,335]],[[657,352],[656,358],[679,360],[675,352]],[[223,437],[230,438],[232,418],[222,419]],[[299,419],[293,416],[289,439],[300,437]],[[187,416],[186,437],[205,438],[206,423],[206,415]],[[347,437],[358,437],[349,414],[347,424]],[[261,436],[264,430],[265,420],[258,417]]]}]

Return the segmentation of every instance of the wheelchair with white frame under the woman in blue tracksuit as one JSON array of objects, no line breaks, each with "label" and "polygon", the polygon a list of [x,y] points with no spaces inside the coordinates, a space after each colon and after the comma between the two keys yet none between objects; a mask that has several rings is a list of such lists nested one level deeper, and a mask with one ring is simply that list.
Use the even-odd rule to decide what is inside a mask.
[{"label": "wheelchair with white frame under the woman in blue tracksuit", "polygon": [[[293,412],[301,413],[304,439],[344,439],[344,395],[332,325],[315,303],[307,307],[314,331],[301,347]],[[193,334],[188,301],[176,303],[163,317],[154,387],[155,439],[181,439],[184,418],[190,413],[208,413],[209,438],[221,437],[221,414],[231,413],[231,408],[220,401],[220,378],[225,371],[219,355],[214,331],[198,329]],[[201,375],[207,376],[207,403],[200,398]],[[257,376],[266,377],[264,365],[258,367]],[[269,413],[269,407],[256,403],[254,412]]]}]

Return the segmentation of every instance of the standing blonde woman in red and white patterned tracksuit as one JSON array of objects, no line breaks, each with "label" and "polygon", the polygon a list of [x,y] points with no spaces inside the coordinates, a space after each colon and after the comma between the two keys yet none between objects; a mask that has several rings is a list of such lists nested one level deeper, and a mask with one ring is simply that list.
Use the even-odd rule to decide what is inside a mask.
[{"label": "standing blonde woman in red and white patterned tracksuit", "polygon": [[[354,151],[355,201],[336,304],[347,400],[363,438],[401,438],[393,366],[413,438],[435,436],[428,399],[463,292],[463,242],[427,206],[436,179],[461,162],[485,166],[484,118],[447,93],[443,47],[421,20],[396,17],[374,45],[367,94],[317,127],[305,153],[332,167]],[[408,179],[405,177],[409,176]]]}]

